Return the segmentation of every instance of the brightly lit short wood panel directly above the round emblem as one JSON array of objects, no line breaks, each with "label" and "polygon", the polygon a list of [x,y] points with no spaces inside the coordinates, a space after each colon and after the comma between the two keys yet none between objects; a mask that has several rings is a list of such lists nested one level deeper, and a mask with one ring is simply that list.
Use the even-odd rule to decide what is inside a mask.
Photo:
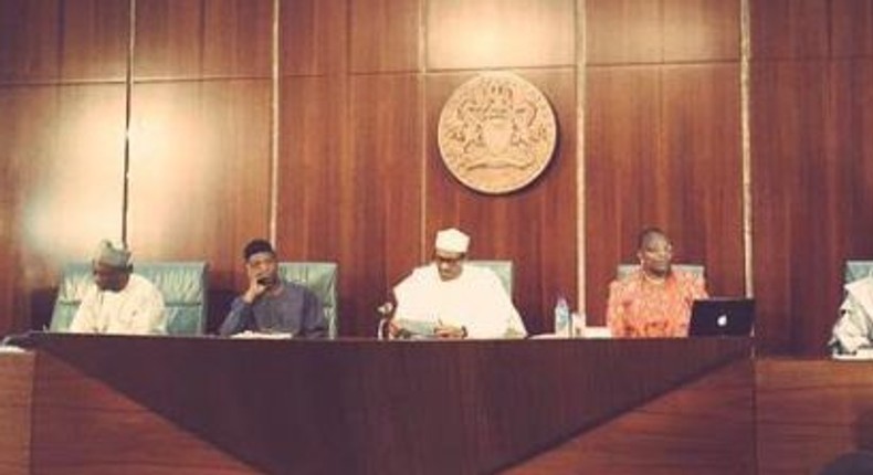
[{"label": "brightly lit short wood panel directly above the round emblem", "polygon": [[574,65],[575,11],[575,0],[428,1],[428,68]]}]

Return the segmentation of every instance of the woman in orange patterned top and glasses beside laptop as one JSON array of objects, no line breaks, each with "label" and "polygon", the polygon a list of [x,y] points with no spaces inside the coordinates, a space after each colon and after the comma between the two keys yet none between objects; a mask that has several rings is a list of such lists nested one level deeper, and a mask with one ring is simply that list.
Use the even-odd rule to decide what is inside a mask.
[{"label": "woman in orange patterned top and glasses beside laptop", "polygon": [[671,268],[673,246],[658,228],[640,233],[640,268],[609,285],[607,324],[616,338],[688,335],[691,304],[707,298],[702,276]]}]

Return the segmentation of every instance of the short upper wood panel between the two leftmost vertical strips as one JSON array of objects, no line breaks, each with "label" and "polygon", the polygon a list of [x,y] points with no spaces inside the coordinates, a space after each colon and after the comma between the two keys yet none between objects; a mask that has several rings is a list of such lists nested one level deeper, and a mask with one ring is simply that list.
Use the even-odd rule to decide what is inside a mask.
[{"label": "short upper wood panel between the two leftmost vertical strips", "polygon": [[139,0],[134,74],[270,77],[272,0]]}]

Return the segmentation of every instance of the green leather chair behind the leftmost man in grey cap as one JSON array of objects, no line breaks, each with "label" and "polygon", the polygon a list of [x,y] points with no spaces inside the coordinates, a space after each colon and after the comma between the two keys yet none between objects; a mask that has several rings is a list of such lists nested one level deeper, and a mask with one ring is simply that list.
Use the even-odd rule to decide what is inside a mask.
[{"label": "green leather chair behind the leftmost man in grey cap", "polygon": [[[208,264],[189,262],[144,262],[134,264],[134,272],[150,281],[164,295],[169,335],[203,335],[207,323]],[[52,312],[52,331],[66,331],[82,303],[85,289],[93,282],[91,263],[64,266],[57,300]]]}]

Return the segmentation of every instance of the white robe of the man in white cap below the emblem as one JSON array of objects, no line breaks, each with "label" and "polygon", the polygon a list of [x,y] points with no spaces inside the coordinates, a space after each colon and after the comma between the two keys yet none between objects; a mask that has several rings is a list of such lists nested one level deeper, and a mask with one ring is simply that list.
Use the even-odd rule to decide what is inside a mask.
[{"label": "white robe of the man in white cap below the emblem", "polygon": [[527,335],[518,310],[490,268],[464,265],[461,275],[442,281],[436,264],[419,267],[395,287],[397,321],[464,327],[469,338]]}]

